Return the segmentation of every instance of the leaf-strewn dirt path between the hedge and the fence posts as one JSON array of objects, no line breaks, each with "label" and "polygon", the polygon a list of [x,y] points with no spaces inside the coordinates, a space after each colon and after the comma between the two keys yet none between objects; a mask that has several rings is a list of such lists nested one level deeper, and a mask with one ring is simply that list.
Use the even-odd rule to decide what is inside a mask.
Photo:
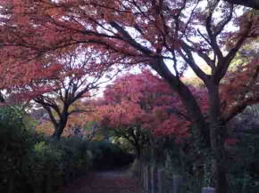
[{"label": "leaf-strewn dirt path between the hedge and the fence posts", "polygon": [[124,171],[88,173],[60,193],[142,193],[137,179]]}]

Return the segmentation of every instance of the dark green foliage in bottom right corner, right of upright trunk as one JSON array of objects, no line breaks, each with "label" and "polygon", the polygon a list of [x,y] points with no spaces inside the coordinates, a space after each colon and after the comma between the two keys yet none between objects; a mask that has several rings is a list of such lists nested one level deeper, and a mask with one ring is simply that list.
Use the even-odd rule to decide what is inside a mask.
[{"label": "dark green foliage in bottom right corner, right of upright trunk", "polygon": [[242,133],[230,162],[230,193],[259,192],[259,135]]}]

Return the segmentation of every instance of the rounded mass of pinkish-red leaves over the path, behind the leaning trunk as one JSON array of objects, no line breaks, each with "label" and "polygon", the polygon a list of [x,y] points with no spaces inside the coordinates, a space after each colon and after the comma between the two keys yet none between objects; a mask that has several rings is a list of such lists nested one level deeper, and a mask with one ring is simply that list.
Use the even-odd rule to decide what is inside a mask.
[{"label": "rounded mass of pinkish-red leaves over the path, behind the leaning trunk", "polygon": [[[191,86],[189,89],[206,113],[209,107],[206,90]],[[140,125],[154,135],[174,136],[177,141],[190,135],[191,123],[180,98],[163,79],[150,71],[117,78],[107,86],[104,101],[106,104],[100,107],[99,115],[111,128]]]}]

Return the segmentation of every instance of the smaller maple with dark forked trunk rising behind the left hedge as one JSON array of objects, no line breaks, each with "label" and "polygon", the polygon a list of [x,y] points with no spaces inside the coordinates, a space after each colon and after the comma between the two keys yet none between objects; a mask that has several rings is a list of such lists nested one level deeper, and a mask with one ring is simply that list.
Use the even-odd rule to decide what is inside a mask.
[{"label": "smaller maple with dark forked trunk rising behind the left hedge", "polygon": [[[54,125],[54,138],[59,139],[65,129],[69,117],[80,112],[89,112],[90,107],[76,105],[76,102],[88,99],[93,91],[108,74],[110,63],[98,65],[96,57],[101,59],[96,52],[70,52],[63,54],[59,59],[61,69],[52,79],[31,81],[26,86],[20,86],[15,93],[17,99],[32,99],[42,108],[46,109],[51,123]],[[104,61],[104,60],[102,60]],[[107,81],[107,80],[105,80]],[[92,93],[91,93],[92,92]]]}]

